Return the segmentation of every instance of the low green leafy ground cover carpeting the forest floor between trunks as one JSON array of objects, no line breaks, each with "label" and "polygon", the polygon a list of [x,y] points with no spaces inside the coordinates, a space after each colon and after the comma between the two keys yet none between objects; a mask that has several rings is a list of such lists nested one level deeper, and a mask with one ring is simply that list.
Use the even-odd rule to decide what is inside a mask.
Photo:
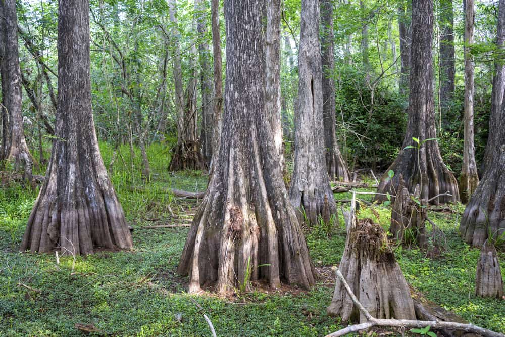
[{"label": "low green leafy ground cover carpeting the forest floor between trunks", "polygon": [[[140,163],[132,163],[127,150],[116,159],[112,180],[135,228],[131,252],[102,251],[77,256],[75,261],[65,256],[60,257],[60,264],[55,254],[18,252],[37,191],[17,183],[0,186],[0,335],[79,336],[83,335],[80,327],[94,331],[91,335],[209,336],[203,314],[209,316],[218,336],[321,336],[342,327],[340,319],[326,315],[334,288],[329,267],[339,263],[345,245],[340,210],[338,225],[306,228],[320,274],[311,291],[284,286],[276,291],[260,287],[226,298],[189,296],[187,277],[175,273],[188,228],[141,227],[189,224],[198,201],[179,199],[167,189],[201,191],[207,176],[168,173],[168,154],[161,149],[149,149],[155,174],[148,182],[134,173],[140,171]],[[102,151],[108,164],[112,151],[107,146]],[[132,188],[139,186],[142,190]],[[349,199],[350,195],[337,194],[336,198]],[[452,205],[443,212],[429,212],[445,234],[447,250],[430,257],[417,247],[398,247],[395,255],[415,296],[503,332],[505,300],[474,296],[479,250],[458,235],[463,210],[462,205]],[[386,208],[362,207],[358,216],[372,218],[386,229],[389,226]],[[504,252],[499,259],[505,278]]]}]

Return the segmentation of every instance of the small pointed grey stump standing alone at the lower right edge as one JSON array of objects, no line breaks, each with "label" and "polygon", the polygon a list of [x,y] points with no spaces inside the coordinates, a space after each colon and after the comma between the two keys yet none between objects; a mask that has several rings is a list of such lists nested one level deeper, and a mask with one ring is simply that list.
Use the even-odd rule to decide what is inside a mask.
[{"label": "small pointed grey stump standing alone at the lower right edge", "polygon": [[484,242],[480,250],[475,277],[475,295],[496,298],[503,296],[503,281],[498,255],[496,248],[489,240]]}]

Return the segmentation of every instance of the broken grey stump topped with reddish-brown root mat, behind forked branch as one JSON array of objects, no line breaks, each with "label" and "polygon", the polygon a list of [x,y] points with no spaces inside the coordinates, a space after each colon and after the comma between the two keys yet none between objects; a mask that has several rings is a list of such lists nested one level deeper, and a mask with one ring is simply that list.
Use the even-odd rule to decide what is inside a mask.
[{"label": "broken grey stump topped with reddish-brown root mat, behind forked branch", "polygon": [[[351,215],[350,221],[354,218]],[[386,233],[372,220],[350,222],[339,269],[363,307],[376,318],[416,319],[409,286],[388,246]],[[327,312],[342,321],[366,322],[337,279]]]}]

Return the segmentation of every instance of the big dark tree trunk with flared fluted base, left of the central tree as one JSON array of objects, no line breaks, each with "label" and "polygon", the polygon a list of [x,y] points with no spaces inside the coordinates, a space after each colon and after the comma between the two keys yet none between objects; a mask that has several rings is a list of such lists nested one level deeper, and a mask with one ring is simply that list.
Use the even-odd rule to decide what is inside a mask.
[{"label": "big dark tree trunk with flared fluted base, left of the central tree", "polygon": [[60,0],[56,139],[21,251],[91,254],[131,249],[123,209],[107,175],[91,111],[89,1]]}]

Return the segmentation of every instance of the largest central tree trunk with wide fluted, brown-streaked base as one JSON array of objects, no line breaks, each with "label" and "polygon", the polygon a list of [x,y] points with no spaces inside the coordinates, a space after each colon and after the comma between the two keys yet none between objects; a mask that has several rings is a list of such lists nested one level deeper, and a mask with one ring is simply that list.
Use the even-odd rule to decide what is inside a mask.
[{"label": "largest central tree trunk with wide fluted, brown-streaked base", "polygon": [[[225,0],[226,91],[219,156],[189,230],[178,273],[189,292],[217,281],[314,284],[305,237],[290,205],[265,106],[260,0]],[[215,154],[215,153],[214,153]],[[267,266],[259,267],[259,265]]]}]

